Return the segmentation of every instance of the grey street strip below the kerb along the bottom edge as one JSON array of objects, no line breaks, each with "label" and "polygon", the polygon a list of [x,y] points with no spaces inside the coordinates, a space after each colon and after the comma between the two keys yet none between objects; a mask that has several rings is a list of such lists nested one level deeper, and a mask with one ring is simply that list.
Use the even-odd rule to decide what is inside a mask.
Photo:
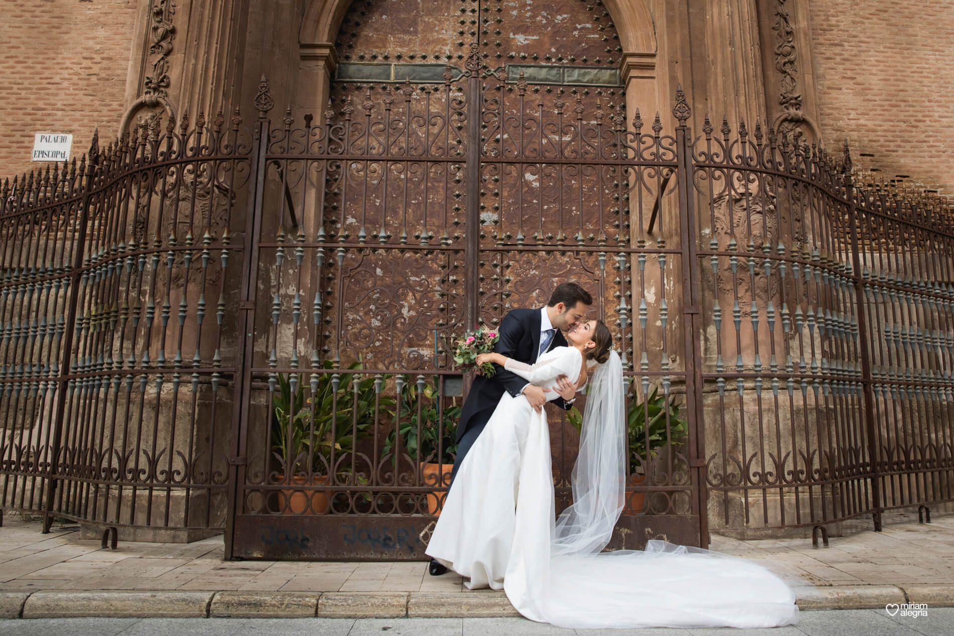
[{"label": "grey street strip below the kerb along the bottom edge", "polygon": [[560,629],[520,618],[466,619],[12,619],[0,636],[941,636],[954,634],[954,607],[926,616],[889,616],[884,609],[802,611],[798,626],[775,629]]}]

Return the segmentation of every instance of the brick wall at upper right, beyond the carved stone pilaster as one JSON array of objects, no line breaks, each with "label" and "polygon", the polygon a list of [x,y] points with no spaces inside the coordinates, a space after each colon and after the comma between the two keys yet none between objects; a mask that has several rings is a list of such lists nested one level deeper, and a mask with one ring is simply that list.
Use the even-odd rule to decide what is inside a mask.
[{"label": "brick wall at upper right, beyond the carved stone pilaster", "polygon": [[825,146],[847,137],[861,166],[954,195],[954,0],[810,7]]}]

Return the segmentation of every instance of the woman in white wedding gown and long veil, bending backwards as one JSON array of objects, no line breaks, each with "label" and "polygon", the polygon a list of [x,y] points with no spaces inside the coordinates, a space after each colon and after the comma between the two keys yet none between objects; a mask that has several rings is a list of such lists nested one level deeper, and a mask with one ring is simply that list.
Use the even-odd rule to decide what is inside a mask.
[{"label": "woman in white wedding gown and long veil, bending backwards", "polygon": [[482,354],[557,393],[556,378],[590,381],[573,503],[554,521],[550,431],[544,409],[504,393],[464,458],[426,554],[469,579],[504,589],[524,616],[564,627],[771,627],[798,623],[795,594],[764,567],[693,546],[650,541],[601,552],[622,511],[627,468],[622,363],[598,320],[533,365]]}]

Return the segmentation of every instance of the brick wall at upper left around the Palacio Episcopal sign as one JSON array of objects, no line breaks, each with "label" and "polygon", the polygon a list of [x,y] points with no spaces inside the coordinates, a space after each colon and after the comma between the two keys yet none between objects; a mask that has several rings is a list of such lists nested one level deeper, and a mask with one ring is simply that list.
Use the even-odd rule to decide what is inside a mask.
[{"label": "brick wall at upper left around the Palacio Episcopal sign", "polygon": [[4,0],[0,17],[0,178],[31,167],[33,134],[114,137],[125,112],[136,0]]}]

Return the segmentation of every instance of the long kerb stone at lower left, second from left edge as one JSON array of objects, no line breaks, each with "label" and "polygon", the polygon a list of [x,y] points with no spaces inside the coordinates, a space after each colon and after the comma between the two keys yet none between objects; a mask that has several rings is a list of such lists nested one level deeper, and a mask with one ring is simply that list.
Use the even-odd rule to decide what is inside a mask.
[{"label": "long kerb stone at lower left, second from left edge", "polygon": [[214,592],[34,592],[23,618],[205,618]]}]

